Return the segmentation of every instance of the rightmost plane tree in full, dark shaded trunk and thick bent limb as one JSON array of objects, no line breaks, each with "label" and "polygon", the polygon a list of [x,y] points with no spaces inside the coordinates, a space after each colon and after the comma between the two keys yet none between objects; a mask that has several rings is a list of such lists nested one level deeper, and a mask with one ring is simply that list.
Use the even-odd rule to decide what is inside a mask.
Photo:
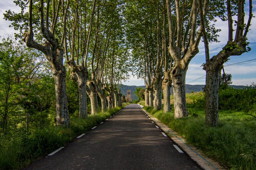
[{"label": "rightmost plane tree in full, dark shaded trunk and thick bent limb", "polygon": [[[203,38],[205,46],[205,60],[206,63],[203,64],[204,70],[206,71],[206,86],[205,86],[205,126],[217,126],[219,118],[219,79],[220,71],[223,68],[223,63],[225,63],[230,56],[241,55],[244,52],[250,51],[247,47],[249,42],[247,42],[247,33],[249,32],[249,27],[251,26],[252,19],[252,0],[249,0],[249,17],[247,23],[245,23],[245,0],[226,1],[226,8],[224,4],[222,9],[227,10],[227,27],[228,27],[228,41],[227,44],[222,48],[222,50],[210,58],[209,53],[209,43],[208,34],[205,29],[203,29]],[[247,5],[247,4],[246,4]],[[202,15],[202,10],[200,10],[200,17]],[[237,20],[233,17],[237,16]],[[222,20],[226,20],[225,17]],[[233,25],[236,25],[234,29]],[[203,27],[204,28],[204,27]],[[233,34],[235,32],[235,34]]]}]

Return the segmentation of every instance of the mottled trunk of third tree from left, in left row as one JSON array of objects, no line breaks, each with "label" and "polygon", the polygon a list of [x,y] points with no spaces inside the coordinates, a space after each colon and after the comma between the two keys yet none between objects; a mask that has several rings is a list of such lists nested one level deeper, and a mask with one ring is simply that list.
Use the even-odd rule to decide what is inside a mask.
[{"label": "mottled trunk of third tree from left, in left row", "polygon": [[91,113],[93,115],[99,112],[97,87],[96,87],[95,81],[93,80],[92,81],[87,80],[86,84],[89,87],[89,88],[86,88],[86,92],[91,101]]}]

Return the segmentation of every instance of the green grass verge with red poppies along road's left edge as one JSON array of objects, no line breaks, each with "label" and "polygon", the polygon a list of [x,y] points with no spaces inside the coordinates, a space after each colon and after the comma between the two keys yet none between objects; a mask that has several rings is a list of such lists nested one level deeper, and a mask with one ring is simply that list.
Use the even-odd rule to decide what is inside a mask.
[{"label": "green grass verge with red poppies along road's left edge", "polygon": [[121,107],[111,108],[108,112],[89,115],[85,119],[73,116],[70,118],[69,128],[50,125],[43,129],[30,129],[28,134],[25,130],[19,129],[13,134],[3,136],[0,138],[0,169],[20,169],[66,145],[120,109]]}]

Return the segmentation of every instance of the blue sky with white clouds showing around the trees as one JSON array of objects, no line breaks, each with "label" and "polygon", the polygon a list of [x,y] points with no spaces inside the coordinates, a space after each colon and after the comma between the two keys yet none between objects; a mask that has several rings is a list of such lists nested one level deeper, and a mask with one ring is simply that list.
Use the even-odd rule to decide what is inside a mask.
[{"label": "blue sky with white clouds showing around the trees", "polygon": [[[246,0],[248,3],[248,0]],[[256,16],[256,1],[252,1],[253,3],[253,16]],[[12,0],[1,0],[0,1],[0,36],[7,37],[8,35],[14,34],[15,30],[10,28],[10,21],[5,21],[3,13],[7,10],[19,12],[19,7],[16,7]],[[246,6],[246,5],[245,5]],[[245,21],[248,19],[248,12],[246,12],[247,7],[245,7]],[[235,18],[234,18],[235,19]],[[228,62],[224,63],[224,70],[226,74],[232,75],[232,85],[251,85],[252,82],[256,83],[256,18],[252,18],[250,26],[250,31],[247,33],[248,42],[250,42],[249,47],[252,50],[248,53],[244,53],[239,56],[230,56]],[[215,23],[215,27],[217,29],[221,29],[221,32],[218,34],[220,37],[218,43],[209,44],[210,48],[210,57],[217,55],[222,48],[225,46],[228,40],[228,25],[227,22],[223,22],[220,19],[217,19]],[[245,63],[240,63],[244,61],[252,60]],[[205,71],[201,65],[205,63],[205,54],[204,54],[204,43],[200,42],[199,44],[199,53],[190,61],[188,66],[188,71],[186,74],[186,84],[189,85],[204,85],[205,84]],[[240,65],[231,65],[225,67],[225,65],[230,65],[233,63],[240,63]],[[130,74],[131,75],[131,74]],[[204,77],[203,77],[204,76]],[[201,78],[202,77],[202,78]],[[198,79],[199,78],[199,79]],[[198,80],[196,80],[198,79]],[[196,81],[194,81],[196,80]],[[145,85],[144,80],[138,79],[136,76],[132,75],[128,80],[122,82],[124,85]]]}]

